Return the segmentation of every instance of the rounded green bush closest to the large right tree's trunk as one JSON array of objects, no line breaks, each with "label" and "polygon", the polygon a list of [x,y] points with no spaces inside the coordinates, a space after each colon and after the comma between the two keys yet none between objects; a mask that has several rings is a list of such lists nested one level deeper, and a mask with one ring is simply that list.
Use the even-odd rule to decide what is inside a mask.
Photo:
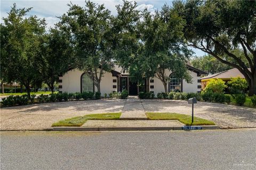
[{"label": "rounded green bush closest to the large right tree's trunk", "polygon": [[231,94],[245,93],[248,88],[246,80],[241,77],[231,77],[227,85]]}]

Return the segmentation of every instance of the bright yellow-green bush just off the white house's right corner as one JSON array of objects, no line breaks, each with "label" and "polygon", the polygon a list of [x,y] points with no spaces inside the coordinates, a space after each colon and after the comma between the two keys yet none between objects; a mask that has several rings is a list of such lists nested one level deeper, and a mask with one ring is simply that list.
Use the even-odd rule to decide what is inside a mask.
[{"label": "bright yellow-green bush just off the white house's right corner", "polygon": [[221,79],[211,79],[206,85],[204,92],[222,93],[227,86]]}]

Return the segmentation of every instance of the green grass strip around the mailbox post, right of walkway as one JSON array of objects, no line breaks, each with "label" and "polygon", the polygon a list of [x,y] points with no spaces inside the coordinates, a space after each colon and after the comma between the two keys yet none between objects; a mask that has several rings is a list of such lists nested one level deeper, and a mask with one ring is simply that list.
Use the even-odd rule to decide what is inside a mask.
[{"label": "green grass strip around the mailbox post, right of walkway", "polygon": [[147,112],[148,119],[150,120],[178,120],[187,126],[199,126],[199,125],[215,125],[214,122],[206,119],[202,119],[194,116],[194,123],[191,123],[191,116],[176,114],[176,113],[157,113],[157,112]]}]

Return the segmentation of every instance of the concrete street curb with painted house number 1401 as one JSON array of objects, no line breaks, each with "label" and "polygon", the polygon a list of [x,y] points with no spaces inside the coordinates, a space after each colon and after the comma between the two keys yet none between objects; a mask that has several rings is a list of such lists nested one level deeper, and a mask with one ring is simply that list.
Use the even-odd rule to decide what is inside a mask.
[{"label": "concrete street curb with painted house number 1401", "polygon": [[[183,129],[184,126],[172,127],[53,127],[54,131],[191,131],[191,130],[210,130],[218,129],[217,125],[213,126],[189,126],[190,129]],[[188,126],[186,126],[188,127]],[[196,129],[195,127],[201,127]]]}]

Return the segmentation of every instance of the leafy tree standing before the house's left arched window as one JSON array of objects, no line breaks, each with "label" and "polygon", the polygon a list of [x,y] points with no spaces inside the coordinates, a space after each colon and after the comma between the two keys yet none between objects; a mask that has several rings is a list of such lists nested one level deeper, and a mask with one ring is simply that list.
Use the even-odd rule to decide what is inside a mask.
[{"label": "leafy tree standing before the house's left arched window", "polygon": [[113,16],[104,5],[90,1],[85,7],[69,5],[67,14],[63,14],[59,28],[71,34],[75,50],[74,66],[84,71],[100,92],[100,82],[105,71],[113,68]]}]

